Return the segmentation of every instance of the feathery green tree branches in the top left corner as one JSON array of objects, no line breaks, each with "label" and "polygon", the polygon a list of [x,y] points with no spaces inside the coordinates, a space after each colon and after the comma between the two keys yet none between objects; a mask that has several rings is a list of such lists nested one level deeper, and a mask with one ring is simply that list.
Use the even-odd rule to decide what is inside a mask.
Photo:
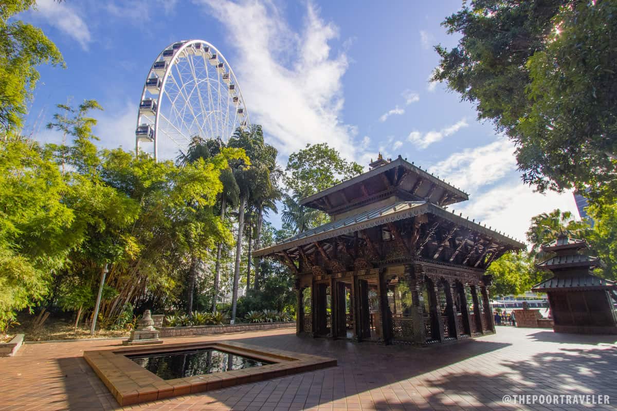
[{"label": "feathery green tree branches in the top left corner", "polygon": [[56,45],[43,30],[15,20],[36,6],[35,0],[4,0],[0,5],[0,131],[19,129],[41,64],[64,65]]}]

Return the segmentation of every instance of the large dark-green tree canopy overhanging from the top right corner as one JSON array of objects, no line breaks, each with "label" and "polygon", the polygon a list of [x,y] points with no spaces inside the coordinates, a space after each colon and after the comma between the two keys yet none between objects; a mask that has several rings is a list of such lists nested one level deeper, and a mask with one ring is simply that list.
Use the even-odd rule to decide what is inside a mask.
[{"label": "large dark-green tree canopy overhanging from the top right corner", "polygon": [[516,143],[524,181],[615,198],[617,3],[475,0],[443,25],[461,38],[433,80]]}]

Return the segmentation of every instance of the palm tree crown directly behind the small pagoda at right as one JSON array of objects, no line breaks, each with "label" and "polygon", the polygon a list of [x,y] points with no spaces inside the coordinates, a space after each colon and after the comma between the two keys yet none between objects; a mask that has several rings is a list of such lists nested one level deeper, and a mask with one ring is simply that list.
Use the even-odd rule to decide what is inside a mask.
[{"label": "palm tree crown directly behind the small pagoda at right", "polygon": [[568,237],[585,238],[589,235],[590,227],[585,221],[576,221],[569,211],[558,208],[550,213],[538,214],[531,218],[531,226],[527,231],[527,240],[532,243],[531,254],[539,253],[540,246],[548,243],[565,233]]}]

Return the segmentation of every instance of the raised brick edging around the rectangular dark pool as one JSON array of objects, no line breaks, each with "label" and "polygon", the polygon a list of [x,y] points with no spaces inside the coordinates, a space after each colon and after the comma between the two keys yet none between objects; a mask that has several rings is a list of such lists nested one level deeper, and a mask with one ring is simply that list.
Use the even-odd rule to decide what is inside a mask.
[{"label": "raised brick edging around the rectangular dark pool", "polygon": [[[273,364],[227,372],[196,375],[186,378],[163,380],[126,357],[126,354],[148,354],[161,351],[178,351],[190,348],[215,348],[234,354],[244,354]],[[118,355],[124,354],[124,355]],[[107,386],[121,406],[155,401],[213,389],[253,383],[320,368],[336,367],[336,359],[299,354],[279,349],[263,348],[239,343],[176,343],[162,346],[132,346],[118,349],[84,351],[83,357]]]}]

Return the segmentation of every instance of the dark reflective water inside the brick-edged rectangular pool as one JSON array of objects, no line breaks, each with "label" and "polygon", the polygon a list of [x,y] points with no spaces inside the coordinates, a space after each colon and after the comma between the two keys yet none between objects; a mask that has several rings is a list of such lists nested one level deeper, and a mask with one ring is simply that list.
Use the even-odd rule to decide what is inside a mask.
[{"label": "dark reflective water inside the brick-edged rectangular pool", "polygon": [[192,349],[126,356],[164,380],[273,364],[217,349]]}]

